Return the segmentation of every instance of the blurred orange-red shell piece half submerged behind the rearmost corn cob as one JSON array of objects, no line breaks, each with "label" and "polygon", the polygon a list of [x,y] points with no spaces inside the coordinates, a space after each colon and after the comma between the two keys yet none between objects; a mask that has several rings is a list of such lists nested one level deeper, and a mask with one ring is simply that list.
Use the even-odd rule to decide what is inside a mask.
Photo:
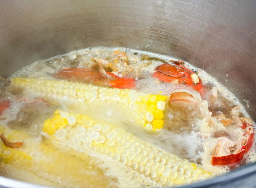
[{"label": "blurred orange-red shell piece half submerged behind the rearmost corn cob", "polygon": [[77,81],[91,81],[101,80],[103,76],[94,71],[89,71],[81,68],[64,68],[62,71],[56,73],[57,78],[61,79],[74,79]]}]

